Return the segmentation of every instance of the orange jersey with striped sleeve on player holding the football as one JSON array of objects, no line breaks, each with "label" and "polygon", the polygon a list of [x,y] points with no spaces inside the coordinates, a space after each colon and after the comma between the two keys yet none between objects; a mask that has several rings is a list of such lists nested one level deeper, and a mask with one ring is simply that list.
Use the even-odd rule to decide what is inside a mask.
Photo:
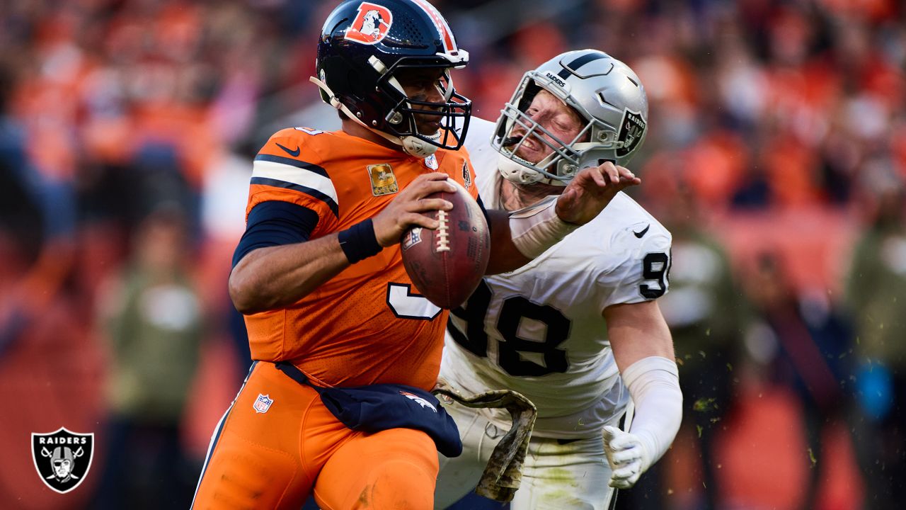
[{"label": "orange jersey with striped sleeve on player holding the football", "polygon": [[[301,205],[318,215],[317,239],[374,217],[429,172],[446,172],[477,197],[465,150],[422,160],[345,132],[284,129],[255,158],[246,214],[263,201]],[[430,389],[447,315],[417,295],[393,245],[294,305],[246,316],[246,327],[253,359],[291,361],[323,384]]]}]

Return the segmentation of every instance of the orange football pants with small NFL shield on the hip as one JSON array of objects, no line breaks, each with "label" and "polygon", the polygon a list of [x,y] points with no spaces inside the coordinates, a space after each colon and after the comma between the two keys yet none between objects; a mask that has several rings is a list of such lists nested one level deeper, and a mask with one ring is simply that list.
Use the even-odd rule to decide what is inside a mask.
[{"label": "orange football pants with small NFL shield on the hip", "polygon": [[[259,395],[273,403],[255,408]],[[427,434],[356,432],[311,387],[262,361],[217,424],[192,507],[299,510],[313,494],[323,510],[429,510],[437,476]]]}]

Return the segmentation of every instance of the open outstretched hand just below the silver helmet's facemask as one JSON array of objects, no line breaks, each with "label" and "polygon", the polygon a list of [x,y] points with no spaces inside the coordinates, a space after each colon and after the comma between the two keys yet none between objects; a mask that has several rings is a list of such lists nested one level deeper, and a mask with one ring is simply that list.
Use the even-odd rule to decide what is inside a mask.
[{"label": "open outstretched hand just below the silver helmet's facemask", "polygon": [[641,179],[622,166],[604,162],[577,173],[557,199],[557,216],[567,223],[584,225],[611,202],[617,192],[641,184]]}]

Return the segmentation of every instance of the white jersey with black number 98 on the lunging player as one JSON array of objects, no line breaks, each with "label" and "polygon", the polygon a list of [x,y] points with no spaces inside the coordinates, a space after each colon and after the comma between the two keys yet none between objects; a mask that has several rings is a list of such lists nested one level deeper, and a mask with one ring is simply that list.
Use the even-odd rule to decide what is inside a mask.
[{"label": "white jersey with black number 98 on the lunging player", "polygon": [[[472,118],[466,147],[488,209],[503,177]],[[657,299],[668,289],[670,232],[624,193],[593,221],[518,270],[487,276],[450,314],[440,377],[465,393],[509,388],[538,408],[535,436],[598,436],[629,401],[602,310]],[[500,427],[505,414],[487,411]]]}]

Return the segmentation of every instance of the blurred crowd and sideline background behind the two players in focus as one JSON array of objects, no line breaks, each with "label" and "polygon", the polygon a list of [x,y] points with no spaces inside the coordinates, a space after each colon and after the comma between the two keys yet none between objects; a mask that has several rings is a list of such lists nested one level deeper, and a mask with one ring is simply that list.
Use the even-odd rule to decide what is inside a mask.
[{"label": "blurred crowd and sideline background behind the two players in focus", "polygon": [[[906,5],[433,3],[479,117],[570,49],[648,92],[633,196],[674,233],[687,405],[621,504],[901,508]],[[0,3],[0,507],[188,506],[249,363],[226,278],[251,158],[337,125],[307,82],[333,5]],[[31,458],[59,427],[96,440],[67,495]]]}]

